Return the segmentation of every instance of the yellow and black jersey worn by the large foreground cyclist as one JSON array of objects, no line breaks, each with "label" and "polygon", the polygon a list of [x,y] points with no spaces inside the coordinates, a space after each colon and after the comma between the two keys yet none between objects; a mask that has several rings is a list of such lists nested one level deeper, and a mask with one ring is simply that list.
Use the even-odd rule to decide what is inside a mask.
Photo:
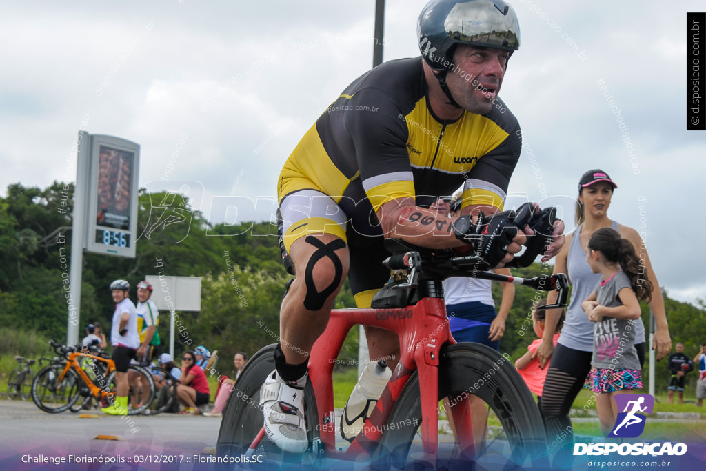
[{"label": "yellow and black jersey worn by the large foreground cyclist", "polygon": [[390,61],[349,85],[289,156],[279,179],[282,198],[321,191],[340,205],[358,232],[379,233],[371,211],[395,198],[425,205],[465,181],[464,204],[502,207],[520,156],[517,119],[496,99],[488,114],[434,116],[421,58]]}]

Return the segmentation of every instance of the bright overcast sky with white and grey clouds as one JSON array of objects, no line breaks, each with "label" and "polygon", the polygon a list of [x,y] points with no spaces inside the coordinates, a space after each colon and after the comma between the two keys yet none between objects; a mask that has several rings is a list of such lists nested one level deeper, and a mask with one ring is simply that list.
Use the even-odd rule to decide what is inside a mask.
[{"label": "bright overcast sky with white and grey clouds", "polygon": [[[196,209],[213,222],[269,219],[292,148],[371,66],[374,3],[5,4],[1,194],[13,182],[73,181],[71,148],[85,129],[140,143],[140,186],[189,181]],[[388,0],[385,60],[419,54],[424,4]],[[694,198],[706,133],[686,131],[686,12],[702,2],[512,4],[522,46],[501,97],[525,149],[510,201],[562,205],[572,229],[578,178],[601,167],[618,184],[611,217],[642,224],[660,284],[676,299],[706,297],[701,244],[691,242],[706,228]],[[216,196],[258,203],[226,213],[212,210]]]}]

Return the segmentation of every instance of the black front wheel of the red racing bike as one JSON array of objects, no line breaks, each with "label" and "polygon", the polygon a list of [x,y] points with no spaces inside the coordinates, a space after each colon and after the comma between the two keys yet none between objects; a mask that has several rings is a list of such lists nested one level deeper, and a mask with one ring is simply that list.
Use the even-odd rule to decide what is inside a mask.
[{"label": "black front wheel of the red racing bike", "polygon": [[[497,430],[498,427],[492,425],[489,427],[499,433],[495,436],[486,434],[485,446],[476,453],[476,463],[501,469],[522,466],[528,456],[532,460],[542,458],[546,451],[542,417],[532,393],[510,361],[495,350],[476,343],[444,347],[439,365],[439,400],[449,398],[457,403],[471,392],[495,413],[496,419],[493,421],[497,420],[501,429]],[[417,371],[409,378],[397,399],[388,424],[390,430],[383,432],[378,450],[373,455],[373,464],[386,468],[405,467],[413,461],[415,453],[421,453],[421,432],[418,434],[421,401]],[[438,451],[440,463],[434,465],[455,468],[471,464],[455,458],[459,451],[453,441],[450,444],[447,441],[444,446],[440,436],[439,442],[442,443]]]}]

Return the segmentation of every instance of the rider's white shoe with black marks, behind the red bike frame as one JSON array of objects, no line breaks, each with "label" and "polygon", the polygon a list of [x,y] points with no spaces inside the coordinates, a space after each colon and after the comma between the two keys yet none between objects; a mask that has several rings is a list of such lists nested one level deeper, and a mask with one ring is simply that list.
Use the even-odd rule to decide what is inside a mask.
[{"label": "rider's white shoe with black marks, behind the red bike frame", "polygon": [[341,415],[341,436],[343,439],[353,441],[363,429],[364,422],[375,409],[375,405],[385,389],[385,384],[388,383],[392,374],[393,372],[390,371],[388,362],[385,360],[370,362],[366,365]]}]

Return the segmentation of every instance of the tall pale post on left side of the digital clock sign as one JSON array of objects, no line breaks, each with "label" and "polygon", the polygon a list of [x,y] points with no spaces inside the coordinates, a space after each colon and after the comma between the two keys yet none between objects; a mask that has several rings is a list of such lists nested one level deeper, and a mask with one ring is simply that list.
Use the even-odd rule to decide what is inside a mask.
[{"label": "tall pale post on left side of the digital clock sign", "polygon": [[71,268],[69,268],[69,291],[66,304],[66,345],[78,343],[80,323],[81,282],[83,280],[83,239],[85,237],[85,208],[88,195],[88,163],[90,156],[90,136],[78,131],[78,153],[76,155],[76,187],[73,193],[73,222],[71,224]]}]

